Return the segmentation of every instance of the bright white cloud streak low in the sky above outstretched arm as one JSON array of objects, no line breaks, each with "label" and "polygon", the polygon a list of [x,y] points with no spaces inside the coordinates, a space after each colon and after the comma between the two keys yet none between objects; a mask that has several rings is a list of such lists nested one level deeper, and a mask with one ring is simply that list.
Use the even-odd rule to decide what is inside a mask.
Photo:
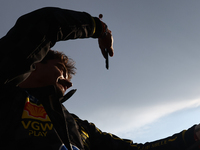
[{"label": "bright white cloud streak low in the sky above outstretched arm", "polygon": [[[185,110],[185,109],[191,109],[196,108],[200,106],[200,98],[195,100],[187,100],[187,101],[174,101],[170,103],[163,103],[153,106],[147,106],[147,107],[140,107],[140,108],[110,108],[110,109],[104,109],[104,111],[97,111],[95,113],[97,118],[104,118],[104,121],[102,122],[101,119],[96,120],[96,124],[101,126],[100,129],[104,128],[104,124],[109,124],[109,126],[106,126],[106,129],[111,133],[115,134],[122,134],[126,133],[131,130],[138,130],[143,126],[146,126],[148,124],[151,124],[153,122],[156,122],[158,119],[170,115],[174,112]],[[119,109],[126,110],[123,112],[117,111]],[[117,122],[114,122],[113,124],[109,123],[110,119],[106,120],[106,116],[110,117],[110,114],[112,112],[115,112],[111,118],[113,120],[118,120]],[[134,114],[134,115],[131,115]],[[137,114],[137,115],[135,115]],[[137,123],[136,123],[137,120]],[[123,127],[123,128],[121,128]]]}]

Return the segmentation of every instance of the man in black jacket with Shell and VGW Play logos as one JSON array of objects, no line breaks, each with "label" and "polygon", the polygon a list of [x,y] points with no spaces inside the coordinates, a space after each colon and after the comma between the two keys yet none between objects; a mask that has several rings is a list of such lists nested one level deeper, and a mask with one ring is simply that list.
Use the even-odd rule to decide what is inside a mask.
[{"label": "man in black jacket with Shell and VGW Play logos", "polygon": [[[73,61],[50,50],[57,41],[98,38],[113,56],[112,34],[88,13],[42,8],[18,19],[0,39],[0,149],[198,149],[198,126],[155,142],[137,144],[104,133],[62,105],[75,73]],[[196,130],[195,130],[196,129]]]}]

